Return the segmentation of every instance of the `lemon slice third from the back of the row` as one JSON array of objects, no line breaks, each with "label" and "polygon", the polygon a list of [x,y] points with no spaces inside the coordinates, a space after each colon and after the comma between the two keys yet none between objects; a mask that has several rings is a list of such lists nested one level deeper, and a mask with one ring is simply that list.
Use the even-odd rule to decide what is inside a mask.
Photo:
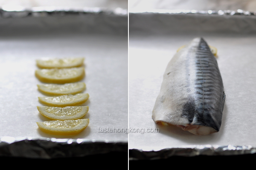
[{"label": "lemon slice third from the back of the row", "polygon": [[57,84],[43,84],[37,85],[38,90],[46,94],[64,95],[64,94],[77,94],[85,89],[84,82],[66,83],[64,85]]}]

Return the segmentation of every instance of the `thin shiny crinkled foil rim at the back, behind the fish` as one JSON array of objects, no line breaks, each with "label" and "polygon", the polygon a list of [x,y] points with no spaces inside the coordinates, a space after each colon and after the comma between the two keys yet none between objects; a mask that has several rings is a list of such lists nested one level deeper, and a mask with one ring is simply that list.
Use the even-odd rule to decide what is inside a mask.
[{"label": "thin shiny crinkled foil rim at the back, behind the fish", "polygon": [[156,13],[156,14],[208,14],[208,15],[243,15],[256,16],[256,11],[238,10],[183,10],[183,9],[151,9],[151,10],[131,10],[129,13]]}]

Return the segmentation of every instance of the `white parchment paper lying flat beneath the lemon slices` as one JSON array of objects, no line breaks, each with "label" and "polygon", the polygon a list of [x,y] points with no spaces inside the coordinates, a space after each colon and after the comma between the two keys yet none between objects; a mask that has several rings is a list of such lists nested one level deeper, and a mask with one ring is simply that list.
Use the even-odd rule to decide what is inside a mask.
[{"label": "white parchment paper lying flat beneath the lemon slices", "polygon": [[[128,128],[128,37],[70,30],[1,35],[0,136],[128,142],[125,132],[99,132],[99,128]],[[42,105],[38,96],[44,94],[37,89],[41,82],[35,77],[35,60],[44,57],[84,57],[83,93],[90,95],[83,104],[89,106],[84,118],[90,124],[76,136],[53,136],[38,129],[36,122],[49,120],[36,107]]]}]

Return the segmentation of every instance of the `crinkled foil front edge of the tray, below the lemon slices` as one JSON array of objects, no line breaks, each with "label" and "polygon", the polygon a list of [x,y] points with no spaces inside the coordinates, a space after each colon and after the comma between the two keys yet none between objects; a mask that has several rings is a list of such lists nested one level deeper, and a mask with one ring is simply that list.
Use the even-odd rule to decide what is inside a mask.
[{"label": "crinkled foil front edge of the tray, below the lemon slices", "polygon": [[128,142],[88,139],[0,137],[0,156],[32,159],[83,157],[111,152],[128,153]]}]

